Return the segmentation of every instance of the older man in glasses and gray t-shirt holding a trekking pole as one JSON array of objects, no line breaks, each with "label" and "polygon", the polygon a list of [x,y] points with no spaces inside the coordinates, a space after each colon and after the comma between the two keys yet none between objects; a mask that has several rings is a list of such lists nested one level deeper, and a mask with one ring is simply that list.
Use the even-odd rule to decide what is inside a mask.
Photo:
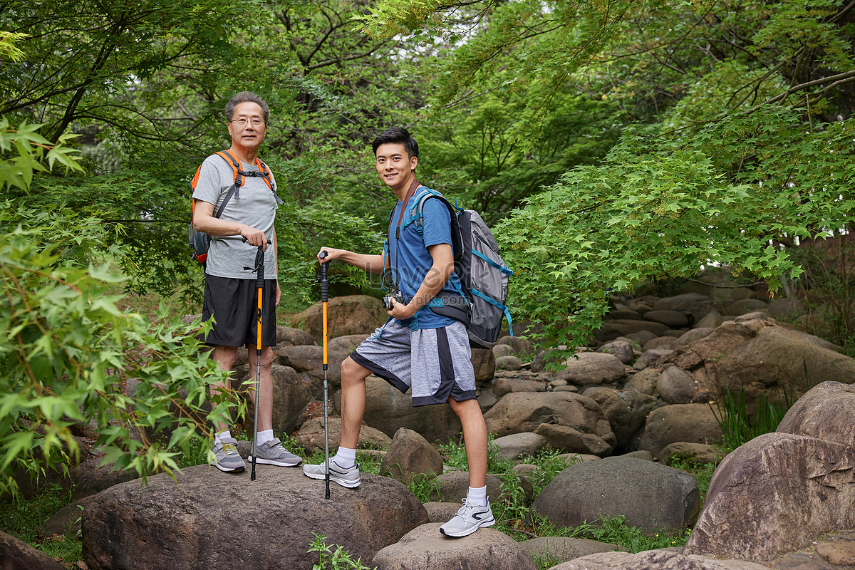
[{"label": "older man in glasses and gray t-shirt holding a trekking pole", "polygon": [[[262,178],[257,161],[258,148],[267,132],[270,109],[261,97],[242,91],[226,105],[228,133],[232,146],[228,152],[240,162],[244,185],[233,193],[219,217],[214,216],[235,183],[232,165],[223,157],[211,155],[198,172],[193,191],[193,226],[211,236],[205,264],[203,320],[214,318],[214,328],[205,338],[213,345],[211,358],[221,370],[231,370],[238,347],[245,345],[250,356],[250,382],[254,394],[257,369],[257,277],[253,272],[258,248],[264,250],[264,287],[262,299],[261,381],[258,394],[257,463],[295,467],[302,461],[286,451],[273,435],[273,349],[276,344],[276,306],[281,291],[276,277],[276,232],[274,217],[281,203],[270,183]],[[268,240],[272,247],[268,246]],[[211,395],[226,391],[225,383],[211,387]],[[214,404],[212,404],[213,406]],[[225,472],[244,471],[237,441],[228,426],[219,424],[212,450],[212,465]],[[251,459],[251,457],[250,457]]]}]

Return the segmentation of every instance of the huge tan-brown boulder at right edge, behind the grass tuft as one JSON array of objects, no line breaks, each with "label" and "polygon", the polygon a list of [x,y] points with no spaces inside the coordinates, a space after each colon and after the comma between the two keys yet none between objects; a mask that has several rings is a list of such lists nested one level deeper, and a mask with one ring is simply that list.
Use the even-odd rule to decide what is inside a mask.
[{"label": "huge tan-brown boulder at right edge, behind the grass tuft", "polygon": [[699,369],[717,392],[743,391],[749,413],[761,398],[800,397],[810,385],[855,382],[855,361],[804,332],[788,330],[764,314],[747,314],[716,328],[669,357],[677,366]]}]

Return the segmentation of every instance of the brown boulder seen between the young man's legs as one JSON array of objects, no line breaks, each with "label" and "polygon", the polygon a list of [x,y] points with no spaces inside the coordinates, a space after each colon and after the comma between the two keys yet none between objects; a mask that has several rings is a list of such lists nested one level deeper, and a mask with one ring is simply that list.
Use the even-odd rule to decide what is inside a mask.
[{"label": "brown boulder seen between the young man's legs", "polygon": [[[335,398],[340,413],[340,396]],[[463,426],[451,406],[413,407],[410,392],[402,394],[386,380],[373,374],[365,379],[365,414],[363,421],[392,438],[402,427],[422,435],[422,438],[449,442],[460,436]]]}]

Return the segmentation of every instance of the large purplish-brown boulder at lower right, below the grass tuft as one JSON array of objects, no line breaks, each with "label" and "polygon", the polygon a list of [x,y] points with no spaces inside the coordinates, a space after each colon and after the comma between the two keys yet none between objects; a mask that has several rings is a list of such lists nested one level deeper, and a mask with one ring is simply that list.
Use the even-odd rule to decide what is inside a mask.
[{"label": "large purplish-brown boulder at lower right, below the grass tuft", "polygon": [[754,438],[716,468],[684,551],[766,562],[855,528],[853,480],[850,445],[789,433]]}]

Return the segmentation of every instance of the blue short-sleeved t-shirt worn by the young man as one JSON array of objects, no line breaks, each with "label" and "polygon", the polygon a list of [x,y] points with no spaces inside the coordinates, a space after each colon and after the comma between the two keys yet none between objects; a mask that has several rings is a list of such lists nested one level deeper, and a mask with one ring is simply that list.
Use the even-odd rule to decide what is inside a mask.
[{"label": "blue short-sleeved t-shirt worn by the young man", "polygon": [[[416,194],[419,192],[416,191]],[[408,224],[408,220],[413,216],[416,204],[416,196],[411,197],[404,211],[400,237],[396,239],[395,233],[401,214],[401,204],[402,202],[398,201],[392,212],[392,220],[390,220],[389,225],[389,265],[392,267],[392,280],[398,290],[401,291],[404,303],[410,303],[412,298],[416,296],[416,291],[422,286],[422,281],[428,274],[428,270],[433,267],[433,257],[431,257],[428,247],[436,244],[451,245],[451,214],[445,204],[440,203],[439,200],[428,198],[422,207],[424,235],[424,239],[422,239],[416,228],[416,223]],[[407,225],[404,226],[404,224]],[[451,273],[451,278],[445,282],[442,291],[460,295],[459,290],[460,278],[457,277],[457,273]],[[400,320],[399,322],[404,326],[422,329],[449,326],[455,321],[450,317],[434,313],[429,307],[422,307],[416,311],[411,319]]]}]

